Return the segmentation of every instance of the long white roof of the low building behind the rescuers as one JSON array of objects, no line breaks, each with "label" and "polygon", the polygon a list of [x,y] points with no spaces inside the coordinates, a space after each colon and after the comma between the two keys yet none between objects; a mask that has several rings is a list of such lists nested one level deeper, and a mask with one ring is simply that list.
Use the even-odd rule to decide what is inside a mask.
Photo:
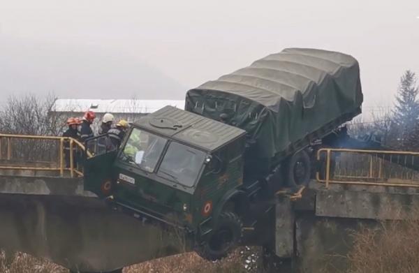
[{"label": "long white roof of the low building behind the rescuers", "polygon": [[112,112],[125,114],[148,114],[159,110],[166,105],[184,109],[185,101],[58,98],[55,101],[51,112],[84,112],[87,110],[93,110],[96,113]]}]

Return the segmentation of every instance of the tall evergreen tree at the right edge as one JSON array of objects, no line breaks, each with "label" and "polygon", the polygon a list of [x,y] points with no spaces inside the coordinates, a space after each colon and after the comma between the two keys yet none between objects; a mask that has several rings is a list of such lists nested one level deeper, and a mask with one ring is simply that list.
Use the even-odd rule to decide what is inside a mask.
[{"label": "tall evergreen tree at the right edge", "polygon": [[396,95],[393,119],[399,128],[402,147],[409,146],[413,131],[416,131],[419,120],[419,89],[416,85],[416,74],[406,71],[400,80]]}]

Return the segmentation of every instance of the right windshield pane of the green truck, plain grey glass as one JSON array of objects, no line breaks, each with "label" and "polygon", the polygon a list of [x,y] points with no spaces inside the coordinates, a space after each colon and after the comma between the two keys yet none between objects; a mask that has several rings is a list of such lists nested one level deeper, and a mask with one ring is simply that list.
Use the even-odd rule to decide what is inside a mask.
[{"label": "right windshield pane of the green truck, plain grey glass", "polygon": [[177,142],[171,142],[161,161],[157,175],[182,184],[193,186],[205,160],[205,152]]}]

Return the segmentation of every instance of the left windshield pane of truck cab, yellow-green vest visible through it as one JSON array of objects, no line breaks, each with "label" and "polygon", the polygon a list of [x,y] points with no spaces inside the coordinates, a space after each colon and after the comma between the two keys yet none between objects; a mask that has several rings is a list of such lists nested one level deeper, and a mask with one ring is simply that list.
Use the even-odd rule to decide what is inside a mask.
[{"label": "left windshield pane of truck cab, yellow-green vest visible through it", "polygon": [[124,149],[122,149],[121,158],[124,161],[135,163],[142,170],[154,172],[166,142],[166,139],[158,135],[133,128]]}]

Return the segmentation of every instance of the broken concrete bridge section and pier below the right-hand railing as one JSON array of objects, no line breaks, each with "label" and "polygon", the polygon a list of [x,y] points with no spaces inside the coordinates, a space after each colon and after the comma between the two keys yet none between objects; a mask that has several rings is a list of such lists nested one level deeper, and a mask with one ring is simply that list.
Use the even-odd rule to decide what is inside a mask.
[{"label": "broken concrete bridge section and pier below the right-hand railing", "polygon": [[418,188],[341,186],[311,182],[295,202],[279,198],[274,244],[265,249],[268,272],[346,272],[362,228],[382,228],[383,221],[418,219]]}]

